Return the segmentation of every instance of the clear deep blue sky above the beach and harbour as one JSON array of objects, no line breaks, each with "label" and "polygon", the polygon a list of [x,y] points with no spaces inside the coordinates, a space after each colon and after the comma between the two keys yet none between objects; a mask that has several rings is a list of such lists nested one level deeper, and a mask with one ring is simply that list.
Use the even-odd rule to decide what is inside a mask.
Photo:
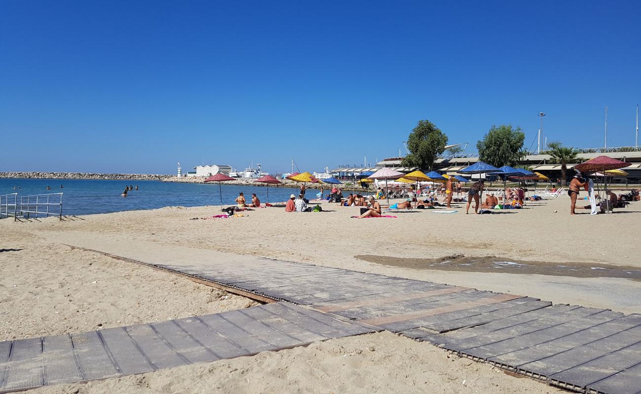
[{"label": "clear deep blue sky above the beach and harbour", "polygon": [[395,156],[419,119],[529,147],[540,111],[600,147],[606,105],[634,144],[639,1],[449,3],[4,0],[0,170],[313,171]]}]

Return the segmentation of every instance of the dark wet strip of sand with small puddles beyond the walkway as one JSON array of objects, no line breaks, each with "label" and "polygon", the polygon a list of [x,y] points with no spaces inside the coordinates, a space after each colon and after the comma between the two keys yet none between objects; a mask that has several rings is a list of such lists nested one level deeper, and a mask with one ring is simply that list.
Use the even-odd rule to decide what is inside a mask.
[{"label": "dark wet strip of sand with small puddles beyond the walkway", "polygon": [[549,261],[521,261],[496,256],[465,257],[462,255],[445,256],[438,259],[399,258],[373,254],[359,254],[354,257],[370,263],[417,270],[502,272],[587,278],[619,277],[641,281],[641,270],[637,267],[603,263],[550,263]]}]

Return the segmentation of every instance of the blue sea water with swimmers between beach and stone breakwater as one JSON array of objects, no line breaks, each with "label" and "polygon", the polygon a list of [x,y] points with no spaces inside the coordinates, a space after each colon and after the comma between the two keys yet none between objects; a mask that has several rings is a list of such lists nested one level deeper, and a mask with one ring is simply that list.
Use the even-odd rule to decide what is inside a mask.
[{"label": "blue sea water with swimmers between beach and stone breakwater", "polygon": [[[51,190],[47,190],[47,186]],[[133,186],[134,189],[138,186],[138,190],[131,190],[127,197],[122,197],[125,186]],[[221,192],[223,205],[235,204],[234,200],[240,192],[244,193],[247,202],[251,202],[252,193],[256,193],[262,203],[267,202],[265,186],[237,186],[222,183],[219,187],[217,183],[0,178],[0,195],[18,193],[18,203],[20,203],[22,196],[63,193],[62,214],[76,216],[156,209],[165,206],[220,205]],[[305,196],[308,199],[315,199],[318,192],[320,190],[308,188]],[[292,193],[298,194],[298,190],[270,187],[269,202],[287,201]],[[4,199],[2,202],[4,203]]]}]

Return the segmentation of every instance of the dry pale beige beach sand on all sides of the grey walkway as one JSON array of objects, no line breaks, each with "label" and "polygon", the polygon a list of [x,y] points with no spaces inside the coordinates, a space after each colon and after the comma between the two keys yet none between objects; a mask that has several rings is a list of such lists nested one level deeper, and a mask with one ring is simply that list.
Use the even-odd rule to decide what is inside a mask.
[{"label": "dry pale beige beach sand on all sides of the grey walkway", "polygon": [[[349,217],[358,208],[322,206],[326,210],[322,213],[267,208],[220,220],[190,220],[219,213],[215,207],[131,211],[63,222],[1,220],[0,247],[23,250],[0,253],[0,340],[162,321],[253,304],[183,277],[63,243],[156,263],[231,252],[238,259],[263,256],[518,293],[555,303],[641,311],[641,282],[629,279],[409,269],[354,258],[465,254],[641,268],[639,202],[621,213],[596,217],[570,217],[565,195],[495,215],[465,215],[464,204],[456,204],[458,212],[453,214],[418,211],[394,214],[397,218],[353,219]],[[488,365],[448,358],[444,350],[389,332],[33,392],[196,393],[202,388],[247,393],[556,392]]]}]

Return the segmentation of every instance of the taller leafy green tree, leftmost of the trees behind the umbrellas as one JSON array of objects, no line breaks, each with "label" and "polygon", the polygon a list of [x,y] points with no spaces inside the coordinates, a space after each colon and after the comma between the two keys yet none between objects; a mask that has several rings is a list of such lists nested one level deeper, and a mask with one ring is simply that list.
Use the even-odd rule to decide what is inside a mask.
[{"label": "taller leafy green tree, leftmost of the trees behind the umbrellas", "polygon": [[434,161],[445,151],[447,136],[429,120],[419,120],[407,138],[409,153],[403,158],[404,167],[432,170]]}]

